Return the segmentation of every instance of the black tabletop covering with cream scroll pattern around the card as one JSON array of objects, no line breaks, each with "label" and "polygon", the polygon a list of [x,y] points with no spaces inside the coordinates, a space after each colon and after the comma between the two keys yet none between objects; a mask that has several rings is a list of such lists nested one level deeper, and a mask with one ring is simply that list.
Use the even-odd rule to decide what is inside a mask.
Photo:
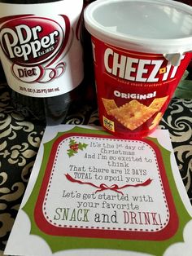
[{"label": "black tabletop covering with cream scroll pattern around the card", "polygon": [[[173,98],[159,128],[168,129],[177,165],[192,204],[192,99]],[[72,111],[66,124],[99,126],[97,105]],[[0,84],[0,254],[28,184],[45,126],[26,121],[11,106],[7,84]]]}]

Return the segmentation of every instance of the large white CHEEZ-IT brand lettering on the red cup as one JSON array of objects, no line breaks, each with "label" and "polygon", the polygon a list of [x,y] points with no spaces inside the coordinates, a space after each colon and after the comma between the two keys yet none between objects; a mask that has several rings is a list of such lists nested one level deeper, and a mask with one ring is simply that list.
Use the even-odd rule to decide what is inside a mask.
[{"label": "large white CHEEZ-IT brand lettering on the red cup", "polygon": [[145,58],[145,56],[135,58],[109,47],[104,52],[106,72],[126,81],[161,82],[167,81],[168,77],[174,78],[179,66],[173,67],[169,63],[164,66],[164,62],[166,62],[164,57],[154,60],[150,60],[149,57]]}]

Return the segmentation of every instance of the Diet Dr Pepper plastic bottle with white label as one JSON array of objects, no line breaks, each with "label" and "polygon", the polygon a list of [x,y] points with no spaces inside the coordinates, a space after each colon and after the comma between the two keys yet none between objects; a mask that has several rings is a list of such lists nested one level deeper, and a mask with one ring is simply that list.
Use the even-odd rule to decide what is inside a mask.
[{"label": "Diet Dr Pepper plastic bottle with white label", "polygon": [[58,125],[85,92],[83,0],[0,0],[0,59],[22,116]]}]

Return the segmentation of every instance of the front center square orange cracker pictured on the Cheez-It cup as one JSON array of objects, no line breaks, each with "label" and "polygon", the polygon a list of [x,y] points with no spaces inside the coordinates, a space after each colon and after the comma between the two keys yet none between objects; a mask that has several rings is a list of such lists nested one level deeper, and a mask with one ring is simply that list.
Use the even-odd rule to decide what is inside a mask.
[{"label": "front center square orange cracker pictured on the Cheez-It cup", "polygon": [[149,108],[139,103],[136,99],[131,100],[120,108],[112,109],[111,115],[129,130],[135,130],[147,121],[156,112],[155,108]]}]

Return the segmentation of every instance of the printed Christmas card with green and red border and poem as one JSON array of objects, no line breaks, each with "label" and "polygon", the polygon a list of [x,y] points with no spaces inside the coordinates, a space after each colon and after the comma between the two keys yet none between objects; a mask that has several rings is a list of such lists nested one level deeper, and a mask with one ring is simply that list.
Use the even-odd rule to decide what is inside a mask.
[{"label": "printed Christmas card with green and red border and poem", "polygon": [[5,254],[190,255],[191,216],[168,130],[47,127]]}]

